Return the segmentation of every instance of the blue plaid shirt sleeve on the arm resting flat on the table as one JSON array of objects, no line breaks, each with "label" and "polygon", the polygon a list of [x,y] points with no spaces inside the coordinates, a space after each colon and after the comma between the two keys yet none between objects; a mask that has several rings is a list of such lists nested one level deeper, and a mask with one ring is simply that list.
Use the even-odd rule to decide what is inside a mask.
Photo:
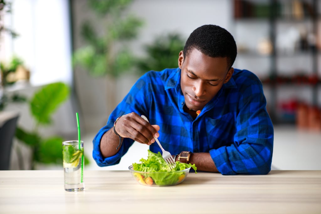
[{"label": "blue plaid shirt sleeve on the arm resting flat on the table", "polygon": [[234,142],[210,155],[223,175],[264,175],[271,170],[274,131],[261,82],[242,87],[240,95]]}]

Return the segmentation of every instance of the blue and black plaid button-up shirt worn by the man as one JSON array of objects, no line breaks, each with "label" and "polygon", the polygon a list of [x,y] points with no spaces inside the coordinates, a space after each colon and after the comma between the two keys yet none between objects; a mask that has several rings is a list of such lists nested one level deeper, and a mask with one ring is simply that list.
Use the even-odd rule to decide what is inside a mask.
[{"label": "blue and black plaid button-up shirt worn by the man", "polygon": [[[230,81],[193,119],[183,110],[180,75],[179,68],[150,71],[134,84],[93,140],[92,155],[97,164],[119,163],[134,141],[125,138],[114,156],[103,158],[100,139],[118,116],[136,112],[160,126],[160,143],[171,154],[209,152],[223,175],[267,174],[272,162],[273,125],[257,76],[234,69]],[[156,143],[149,149],[160,151]]]}]

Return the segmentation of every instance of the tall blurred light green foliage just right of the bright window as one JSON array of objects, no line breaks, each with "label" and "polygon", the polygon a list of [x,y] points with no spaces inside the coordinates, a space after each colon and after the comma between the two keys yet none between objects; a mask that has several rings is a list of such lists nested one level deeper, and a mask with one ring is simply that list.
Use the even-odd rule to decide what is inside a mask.
[{"label": "tall blurred light green foliage just right of the bright window", "polygon": [[[137,36],[143,22],[134,15],[126,14],[131,0],[88,1],[89,8],[102,21],[99,33],[90,21],[84,21],[81,36],[86,45],[76,49],[73,55],[74,65],[85,68],[92,76],[109,75],[117,77],[130,70],[134,55],[126,42]],[[97,25],[97,23],[95,23]]]}]

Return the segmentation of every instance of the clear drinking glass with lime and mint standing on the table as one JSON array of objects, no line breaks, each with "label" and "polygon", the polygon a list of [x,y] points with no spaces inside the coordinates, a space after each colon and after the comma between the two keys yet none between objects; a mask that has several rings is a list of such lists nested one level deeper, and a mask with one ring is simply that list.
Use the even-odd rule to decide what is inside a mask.
[{"label": "clear drinking glass with lime and mint standing on the table", "polygon": [[69,192],[82,191],[83,182],[83,141],[62,142],[64,162],[65,190]]}]

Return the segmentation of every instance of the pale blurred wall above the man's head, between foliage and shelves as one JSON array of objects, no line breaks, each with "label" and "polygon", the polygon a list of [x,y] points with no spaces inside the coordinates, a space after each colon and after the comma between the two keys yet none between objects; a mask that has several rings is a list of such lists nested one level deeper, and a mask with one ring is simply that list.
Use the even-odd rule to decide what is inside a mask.
[{"label": "pale blurred wall above the man's head, between foliage and shelves", "polygon": [[204,24],[216,24],[231,30],[233,15],[230,0],[135,0],[130,11],[145,21],[133,45],[138,54],[142,54],[143,44],[163,33],[178,32],[187,39],[193,30]]}]

